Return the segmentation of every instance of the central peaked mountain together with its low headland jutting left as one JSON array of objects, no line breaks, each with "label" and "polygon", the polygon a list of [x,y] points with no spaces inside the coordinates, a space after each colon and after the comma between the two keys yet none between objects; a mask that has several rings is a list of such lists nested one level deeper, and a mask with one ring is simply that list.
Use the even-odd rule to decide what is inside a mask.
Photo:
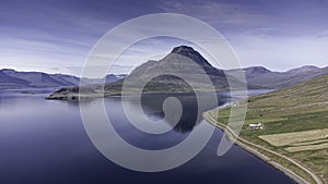
[{"label": "central peaked mountain together with its low headland jutting left", "polygon": [[[245,86],[233,76],[227,76],[236,86]],[[136,89],[143,93],[192,93],[194,90],[209,91],[229,90],[230,85],[223,70],[213,68],[198,51],[188,46],[174,48],[167,56],[159,61],[148,61],[136,68],[125,79],[102,86],[83,86],[95,96],[120,95],[122,84],[125,93],[133,94]],[[144,82],[148,82],[143,86]],[[249,88],[255,88],[248,86]],[[235,88],[236,89],[236,88]],[[63,88],[54,93],[49,99],[67,99],[75,96],[79,87]]]}]

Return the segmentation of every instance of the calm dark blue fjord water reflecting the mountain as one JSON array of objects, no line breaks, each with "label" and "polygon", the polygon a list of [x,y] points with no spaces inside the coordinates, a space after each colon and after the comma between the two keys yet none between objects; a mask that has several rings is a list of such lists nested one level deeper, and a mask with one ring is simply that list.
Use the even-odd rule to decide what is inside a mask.
[{"label": "calm dark blue fjord water reflecting the mountain", "polygon": [[[83,128],[78,103],[47,101],[42,94],[0,94],[1,184],[293,183],[237,146],[218,157],[220,130],[196,158],[179,168],[159,173],[130,171],[107,160],[93,146]],[[164,98],[144,97],[143,111],[151,119],[160,119],[163,112],[157,102]],[[181,121],[173,131],[159,136],[130,125],[119,98],[105,101],[109,119],[127,142],[140,148],[163,149],[181,142],[195,124],[207,123],[197,120],[192,97],[179,98],[185,101]]]}]

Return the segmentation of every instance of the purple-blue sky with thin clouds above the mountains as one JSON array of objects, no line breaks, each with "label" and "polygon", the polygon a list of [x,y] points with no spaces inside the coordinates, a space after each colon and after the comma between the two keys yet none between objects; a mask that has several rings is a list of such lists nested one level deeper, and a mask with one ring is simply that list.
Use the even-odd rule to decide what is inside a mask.
[{"label": "purple-blue sky with thin clouds above the mountains", "polygon": [[[230,42],[243,68],[328,65],[325,0],[0,0],[0,69],[80,75],[98,39],[151,13],[180,13],[208,23]],[[160,59],[181,44],[171,38],[140,42],[110,73],[128,73],[143,62],[144,52]]]}]

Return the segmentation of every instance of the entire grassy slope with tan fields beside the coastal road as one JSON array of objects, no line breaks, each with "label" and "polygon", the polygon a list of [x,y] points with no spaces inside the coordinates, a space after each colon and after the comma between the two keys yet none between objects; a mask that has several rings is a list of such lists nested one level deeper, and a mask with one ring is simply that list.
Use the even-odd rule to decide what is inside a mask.
[{"label": "entire grassy slope with tan fields beside the coastal road", "polygon": [[[248,109],[241,137],[288,156],[328,183],[328,75],[246,99]],[[226,124],[231,108],[212,111]],[[263,130],[249,128],[262,123]],[[278,161],[279,162],[279,161]],[[288,165],[280,161],[280,164]],[[290,168],[314,183],[308,175]]]}]

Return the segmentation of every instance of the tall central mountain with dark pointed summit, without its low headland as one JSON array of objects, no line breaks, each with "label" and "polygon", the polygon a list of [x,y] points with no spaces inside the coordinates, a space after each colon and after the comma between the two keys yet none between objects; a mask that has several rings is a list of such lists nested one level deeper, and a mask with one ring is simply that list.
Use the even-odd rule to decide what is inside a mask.
[{"label": "tall central mountain with dark pointed summit, without its low headland", "polygon": [[[160,74],[163,75],[161,76]],[[169,74],[177,75],[178,77]],[[211,86],[214,86],[216,90],[229,89],[224,71],[213,68],[198,51],[188,46],[174,48],[160,61],[148,61],[141,64],[127,76],[127,81],[130,82],[130,85],[138,86],[140,81],[149,81],[152,77],[154,77],[150,82],[152,84],[156,84],[157,86],[178,86],[179,88],[184,88],[183,91],[190,88],[190,86],[186,84],[187,81],[190,82],[189,85],[196,86],[199,90],[210,89]],[[234,78],[232,77],[230,79]],[[234,81],[237,82],[237,79]],[[213,84],[211,84],[211,82]],[[242,85],[241,82],[238,83]],[[176,89],[166,88],[166,90],[174,91]]]}]

